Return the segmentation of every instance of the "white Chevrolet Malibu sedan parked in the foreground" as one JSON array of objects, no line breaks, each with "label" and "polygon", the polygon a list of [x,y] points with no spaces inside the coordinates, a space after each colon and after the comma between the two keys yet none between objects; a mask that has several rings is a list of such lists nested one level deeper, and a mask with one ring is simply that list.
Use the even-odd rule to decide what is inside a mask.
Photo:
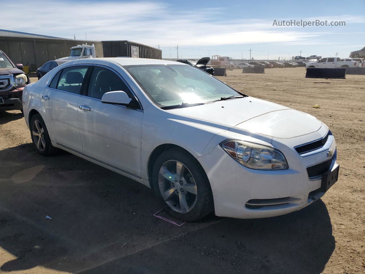
[{"label": "white Chevrolet Malibu sedan parked in the foreground", "polygon": [[64,149],[152,188],[172,216],[299,210],[336,181],[336,143],[313,116],[178,62],[67,62],[23,92],[44,156]]}]

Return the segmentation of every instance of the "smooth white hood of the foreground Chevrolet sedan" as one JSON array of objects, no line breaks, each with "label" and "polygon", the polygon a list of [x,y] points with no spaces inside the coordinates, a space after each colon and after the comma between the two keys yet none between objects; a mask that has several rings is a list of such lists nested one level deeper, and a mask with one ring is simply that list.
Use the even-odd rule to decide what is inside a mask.
[{"label": "smooth white hood of the foreground Chevrolet sedan", "polygon": [[322,126],[322,122],[310,114],[252,97],[169,111],[276,138],[302,136]]}]

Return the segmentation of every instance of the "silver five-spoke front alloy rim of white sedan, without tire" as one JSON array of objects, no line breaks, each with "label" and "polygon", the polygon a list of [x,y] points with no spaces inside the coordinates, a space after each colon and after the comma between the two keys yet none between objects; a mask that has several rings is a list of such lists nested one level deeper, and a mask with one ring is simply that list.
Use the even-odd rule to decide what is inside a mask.
[{"label": "silver five-spoke front alloy rim of white sedan, without tire", "polygon": [[187,213],[196,203],[197,188],[189,169],[176,160],[166,161],[158,173],[162,198],[174,211]]}]

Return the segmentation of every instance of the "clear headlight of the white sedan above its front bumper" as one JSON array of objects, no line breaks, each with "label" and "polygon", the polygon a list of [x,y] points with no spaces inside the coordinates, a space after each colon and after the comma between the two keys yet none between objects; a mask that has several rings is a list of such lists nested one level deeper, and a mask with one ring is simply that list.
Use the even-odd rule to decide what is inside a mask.
[{"label": "clear headlight of the white sedan above its front bumper", "polygon": [[288,163],[283,153],[269,146],[239,140],[227,140],[220,144],[238,163],[255,170],[285,170]]}]

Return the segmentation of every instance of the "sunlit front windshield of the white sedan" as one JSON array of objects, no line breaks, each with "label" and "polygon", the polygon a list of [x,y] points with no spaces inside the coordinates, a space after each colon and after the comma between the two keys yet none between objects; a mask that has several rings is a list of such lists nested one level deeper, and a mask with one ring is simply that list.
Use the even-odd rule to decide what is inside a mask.
[{"label": "sunlit front windshield of the white sedan", "polygon": [[213,76],[187,65],[125,66],[146,94],[160,107],[209,103],[237,91]]}]

